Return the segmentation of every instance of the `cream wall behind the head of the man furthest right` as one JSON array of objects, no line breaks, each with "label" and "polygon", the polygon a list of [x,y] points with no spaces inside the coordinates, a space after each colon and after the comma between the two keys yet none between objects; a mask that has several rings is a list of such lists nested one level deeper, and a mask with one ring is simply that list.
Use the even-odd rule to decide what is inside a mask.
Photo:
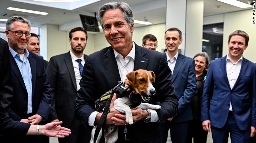
[{"label": "cream wall behind the head of the man furthest right", "polygon": [[252,23],[252,10],[224,13],[219,15],[204,17],[203,24],[213,24],[224,22],[223,30],[223,56],[228,53],[228,36],[236,30],[245,31],[250,39],[248,47],[243,56],[252,62],[256,62],[256,24]]}]

